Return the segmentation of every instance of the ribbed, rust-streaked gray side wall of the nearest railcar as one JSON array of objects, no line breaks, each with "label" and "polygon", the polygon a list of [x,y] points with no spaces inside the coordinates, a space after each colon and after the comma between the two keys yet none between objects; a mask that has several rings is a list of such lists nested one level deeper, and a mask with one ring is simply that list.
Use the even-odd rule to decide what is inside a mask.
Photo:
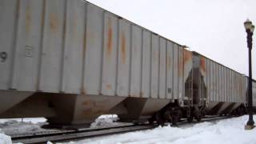
[{"label": "ribbed, rust-streaked gray side wall of the nearest railcar", "polygon": [[0,90],[182,98],[192,54],[81,0],[0,2]]}]

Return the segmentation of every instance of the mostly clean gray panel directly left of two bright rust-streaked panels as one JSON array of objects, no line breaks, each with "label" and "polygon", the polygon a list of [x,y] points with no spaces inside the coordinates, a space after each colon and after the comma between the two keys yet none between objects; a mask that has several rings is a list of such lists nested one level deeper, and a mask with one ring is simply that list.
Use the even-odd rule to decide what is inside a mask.
[{"label": "mostly clean gray panel directly left of two bright rust-streaked panels", "polygon": [[[100,94],[102,85],[102,47],[104,13],[97,6],[88,4],[83,58],[82,93]],[[98,55],[98,57],[96,57]]]}]

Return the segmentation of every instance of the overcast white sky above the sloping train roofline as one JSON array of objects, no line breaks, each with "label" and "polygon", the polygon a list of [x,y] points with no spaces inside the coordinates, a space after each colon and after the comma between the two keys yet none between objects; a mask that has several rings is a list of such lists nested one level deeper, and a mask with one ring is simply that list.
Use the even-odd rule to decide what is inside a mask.
[{"label": "overcast white sky above the sloping train roofline", "polygon": [[[243,22],[256,25],[255,0],[88,0],[248,75]],[[256,78],[256,30],[253,78]]]}]

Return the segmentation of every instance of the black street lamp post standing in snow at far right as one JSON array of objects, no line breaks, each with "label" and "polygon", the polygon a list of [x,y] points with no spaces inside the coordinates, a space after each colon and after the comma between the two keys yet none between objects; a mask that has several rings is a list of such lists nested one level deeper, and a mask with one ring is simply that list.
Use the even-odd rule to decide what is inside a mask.
[{"label": "black street lamp post standing in snow at far right", "polygon": [[251,49],[253,46],[253,34],[254,25],[248,19],[244,22],[247,34],[247,47],[249,50],[249,82],[248,82],[248,106],[249,106],[249,120],[246,123],[245,129],[251,130],[254,128],[254,118],[253,118],[253,97],[252,97],[252,74],[251,74]]}]

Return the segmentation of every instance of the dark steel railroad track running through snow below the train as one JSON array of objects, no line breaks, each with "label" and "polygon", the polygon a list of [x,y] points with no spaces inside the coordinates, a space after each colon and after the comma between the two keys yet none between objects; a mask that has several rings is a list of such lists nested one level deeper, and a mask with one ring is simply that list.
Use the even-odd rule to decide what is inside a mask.
[{"label": "dark steel railroad track running through snow below the train", "polygon": [[[218,121],[221,119],[232,118],[230,116],[226,117],[208,117],[202,119],[201,122],[212,122]],[[198,123],[198,122],[191,122]],[[178,127],[191,125],[191,123],[182,120],[178,122]],[[128,124],[126,126],[111,126],[105,128],[85,128],[80,130],[45,130],[39,132],[32,132],[26,134],[10,134],[13,142],[22,142],[22,143],[46,143],[51,142],[65,142],[71,140],[78,140],[82,138],[92,138],[102,135],[109,134],[121,134],[136,130],[149,130],[157,127],[157,125],[143,124],[143,125],[134,125]]]}]

